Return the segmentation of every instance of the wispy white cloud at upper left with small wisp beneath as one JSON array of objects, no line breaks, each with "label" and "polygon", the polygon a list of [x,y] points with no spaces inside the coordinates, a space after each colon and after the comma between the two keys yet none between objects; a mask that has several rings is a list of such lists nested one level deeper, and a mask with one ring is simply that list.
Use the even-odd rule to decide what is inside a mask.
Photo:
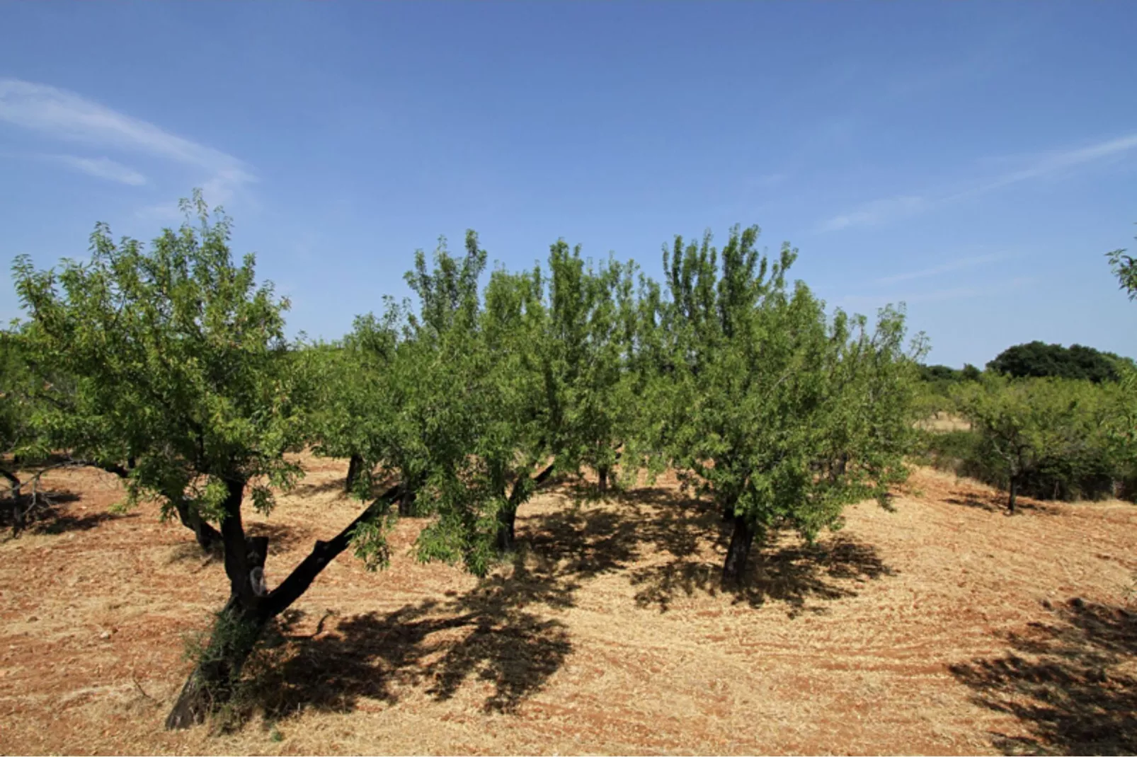
[{"label": "wispy white cloud at upper left with small wisp beneath", "polygon": [[[45,138],[163,158],[205,173],[200,180],[213,202],[224,202],[255,180],[240,159],[172,134],[149,122],[47,84],[0,78],[0,122]],[[72,158],[69,165],[103,178],[136,183],[144,177],[109,158]],[[101,172],[101,173],[98,173]]]}]

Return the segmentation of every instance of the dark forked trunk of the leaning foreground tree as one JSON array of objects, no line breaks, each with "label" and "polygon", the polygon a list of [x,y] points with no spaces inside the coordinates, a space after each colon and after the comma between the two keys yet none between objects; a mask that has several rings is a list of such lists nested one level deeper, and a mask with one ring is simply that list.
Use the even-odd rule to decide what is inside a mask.
[{"label": "dark forked trunk of the leaning foreground tree", "polygon": [[222,521],[221,534],[225,543],[230,599],[217,615],[209,644],[166,717],[167,730],[201,723],[213,708],[232,696],[241,668],[256,648],[265,625],[307,591],[327,564],[347,549],[355,527],[390,507],[399,491],[398,486],[390,489],[331,541],[317,541],[304,561],[268,592],[263,577],[268,539],[246,538],[241,524],[244,481],[233,479],[226,485],[229,496],[224,502],[225,519]]}]

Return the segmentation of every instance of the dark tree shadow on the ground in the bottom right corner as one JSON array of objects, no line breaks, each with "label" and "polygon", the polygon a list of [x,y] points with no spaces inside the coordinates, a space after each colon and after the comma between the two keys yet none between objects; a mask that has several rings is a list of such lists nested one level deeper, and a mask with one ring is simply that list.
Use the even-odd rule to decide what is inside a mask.
[{"label": "dark tree shadow on the ground in the bottom right corner", "polygon": [[952,666],[973,701],[1030,735],[990,733],[1004,754],[1137,754],[1137,615],[1071,600],[1006,635],[1003,657]]}]

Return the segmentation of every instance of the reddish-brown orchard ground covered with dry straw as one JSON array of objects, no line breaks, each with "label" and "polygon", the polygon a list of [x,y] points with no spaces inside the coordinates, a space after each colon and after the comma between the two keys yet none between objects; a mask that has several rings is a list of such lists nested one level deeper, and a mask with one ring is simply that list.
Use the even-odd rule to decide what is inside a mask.
[{"label": "reddish-brown orchard ground covered with dry straw", "polygon": [[[254,534],[269,583],[350,522],[346,463]],[[723,592],[720,514],[665,476],[605,502],[562,481],[524,505],[514,565],[388,571],[349,552],[250,671],[235,730],[163,731],[186,638],[227,596],[156,506],[69,469],[40,530],[0,544],[6,754],[781,754],[1137,750],[1137,507],[1040,504],[918,469],[810,548],[762,550]],[[752,560],[755,563],[757,560]],[[269,665],[271,663],[271,665]]]}]

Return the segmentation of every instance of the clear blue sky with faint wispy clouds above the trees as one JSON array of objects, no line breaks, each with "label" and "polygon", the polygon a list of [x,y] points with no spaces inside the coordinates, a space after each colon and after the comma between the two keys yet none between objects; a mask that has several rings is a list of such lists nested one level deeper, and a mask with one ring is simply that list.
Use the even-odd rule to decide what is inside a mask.
[{"label": "clear blue sky with faint wispy clouds above the trees", "polygon": [[[1134,2],[3,3],[0,257],[151,239],[202,186],[335,338],[478,230],[653,275],[758,224],[830,305],[907,302],[929,360],[1137,355]],[[18,315],[10,282],[0,317]]]}]

